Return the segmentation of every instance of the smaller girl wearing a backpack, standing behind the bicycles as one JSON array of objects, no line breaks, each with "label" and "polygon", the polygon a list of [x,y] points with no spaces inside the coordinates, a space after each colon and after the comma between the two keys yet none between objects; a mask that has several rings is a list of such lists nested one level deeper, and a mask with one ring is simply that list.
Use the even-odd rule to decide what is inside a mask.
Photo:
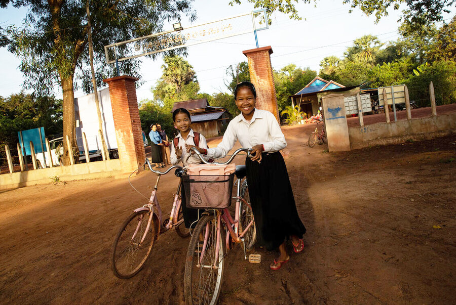
[{"label": "smaller girl wearing a backpack, standing behind the bicycles", "polygon": [[[204,138],[203,135],[194,132],[190,127],[192,120],[190,119],[188,110],[184,108],[174,110],[173,121],[174,127],[179,130],[179,134],[171,143],[171,163],[176,165],[182,162],[184,166],[201,163],[198,156],[191,156],[185,149],[186,146],[196,147],[196,144],[198,144],[198,147],[207,148],[206,138]],[[180,189],[185,228],[189,228],[190,225],[198,219],[198,210],[186,207],[184,187],[182,186]]]}]

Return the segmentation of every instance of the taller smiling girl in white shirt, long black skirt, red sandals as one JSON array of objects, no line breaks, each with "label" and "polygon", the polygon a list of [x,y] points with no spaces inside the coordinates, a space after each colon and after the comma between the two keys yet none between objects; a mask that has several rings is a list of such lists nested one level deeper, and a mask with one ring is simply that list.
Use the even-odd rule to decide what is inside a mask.
[{"label": "taller smiling girl in white shirt, long black skirt, red sandals", "polygon": [[[270,268],[278,270],[290,259],[285,240],[291,239],[296,253],[304,249],[302,234],[306,228],[299,219],[288,172],[281,149],[287,146],[276,117],[255,108],[256,91],[251,82],[236,86],[236,106],[241,114],[228,124],[222,142],[215,148],[198,150],[211,158],[225,156],[237,140],[252,148],[246,158],[247,183],[255,217],[257,243],[268,250],[279,249],[279,257]],[[187,151],[191,149],[187,146]]]}]

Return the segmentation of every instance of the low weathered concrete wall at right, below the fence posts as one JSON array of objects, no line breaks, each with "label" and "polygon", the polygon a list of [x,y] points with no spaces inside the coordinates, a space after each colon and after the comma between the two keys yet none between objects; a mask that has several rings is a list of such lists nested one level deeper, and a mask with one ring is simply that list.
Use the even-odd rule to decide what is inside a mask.
[{"label": "low weathered concrete wall at right, below the fence posts", "polygon": [[351,149],[403,143],[408,139],[431,139],[452,133],[456,133],[454,113],[349,128]]}]

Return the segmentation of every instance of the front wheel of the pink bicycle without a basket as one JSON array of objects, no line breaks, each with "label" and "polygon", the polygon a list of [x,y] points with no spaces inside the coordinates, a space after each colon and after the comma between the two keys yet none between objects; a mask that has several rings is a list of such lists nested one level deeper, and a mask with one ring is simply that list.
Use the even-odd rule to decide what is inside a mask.
[{"label": "front wheel of the pink bicycle without a basket", "polygon": [[131,214],[111,247],[110,265],[114,275],[128,279],[137,274],[150,254],[155,235],[154,217],[150,211]]}]

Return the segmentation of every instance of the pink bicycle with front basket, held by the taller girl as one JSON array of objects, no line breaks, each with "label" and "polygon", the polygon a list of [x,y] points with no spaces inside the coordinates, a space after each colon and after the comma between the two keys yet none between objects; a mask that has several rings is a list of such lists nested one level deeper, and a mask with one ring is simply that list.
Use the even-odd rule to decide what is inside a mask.
[{"label": "pink bicycle with front basket, held by the taller girl", "polygon": [[[211,164],[203,159],[198,150],[194,148],[193,150],[204,163]],[[228,161],[216,164],[229,164],[242,151],[249,152],[248,149],[240,148]],[[224,207],[204,206],[206,210],[193,231],[185,259],[184,296],[186,304],[215,304],[220,294],[226,249],[231,249],[233,243],[241,243],[244,248],[244,258],[247,259],[246,251],[251,250],[255,244],[255,222],[250,206],[247,181],[244,179],[245,175],[245,165],[238,165],[236,172],[230,176],[212,176],[212,178],[182,176],[185,194],[191,194],[193,187],[193,194],[196,196],[198,195],[195,190],[200,188],[208,190],[211,196],[226,198]],[[230,205],[232,199],[234,176],[237,178],[237,193],[233,197],[236,199],[233,219],[227,206]],[[185,199],[189,201],[191,196],[186,196]],[[189,203],[186,203],[189,206]],[[251,262],[259,257],[255,254],[251,254],[251,256],[252,259],[249,257]]]}]

